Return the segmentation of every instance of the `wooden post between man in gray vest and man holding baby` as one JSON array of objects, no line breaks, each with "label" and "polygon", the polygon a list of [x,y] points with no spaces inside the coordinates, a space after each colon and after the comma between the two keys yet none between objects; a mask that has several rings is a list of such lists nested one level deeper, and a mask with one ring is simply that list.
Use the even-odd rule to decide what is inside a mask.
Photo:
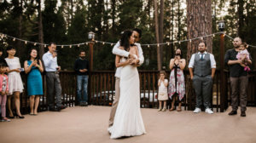
[{"label": "wooden post between man in gray vest and man holding baby", "polygon": [[224,33],[220,34],[220,54],[219,54],[219,72],[220,72],[220,112],[224,112],[226,106],[226,94],[225,89],[227,85],[225,84],[224,77]]}]

